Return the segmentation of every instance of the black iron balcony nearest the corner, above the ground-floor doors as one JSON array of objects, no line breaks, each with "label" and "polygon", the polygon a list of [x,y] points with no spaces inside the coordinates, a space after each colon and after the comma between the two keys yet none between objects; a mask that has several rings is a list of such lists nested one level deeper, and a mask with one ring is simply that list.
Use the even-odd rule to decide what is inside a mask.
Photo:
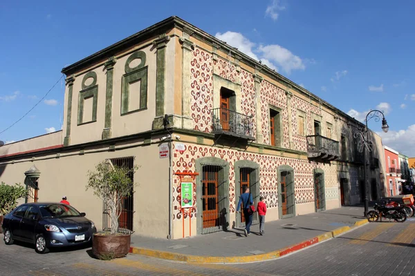
[{"label": "black iron balcony nearest the corner, above the ground-floor doors", "polygon": [[254,141],[254,119],[226,108],[212,109],[213,133]]}]

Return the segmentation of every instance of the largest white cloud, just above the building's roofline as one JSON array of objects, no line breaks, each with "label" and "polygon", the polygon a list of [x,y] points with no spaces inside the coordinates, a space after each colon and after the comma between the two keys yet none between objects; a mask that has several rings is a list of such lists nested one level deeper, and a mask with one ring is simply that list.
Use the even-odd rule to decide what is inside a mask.
[{"label": "largest white cloud, just above the building's roofline", "polygon": [[277,44],[257,46],[239,32],[228,31],[223,34],[218,32],[215,37],[237,48],[252,59],[261,61],[273,70],[278,71],[278,68],[282,68],[287,74],[290,74],[292,70],[304,70],[306,68],[300,57]]}]

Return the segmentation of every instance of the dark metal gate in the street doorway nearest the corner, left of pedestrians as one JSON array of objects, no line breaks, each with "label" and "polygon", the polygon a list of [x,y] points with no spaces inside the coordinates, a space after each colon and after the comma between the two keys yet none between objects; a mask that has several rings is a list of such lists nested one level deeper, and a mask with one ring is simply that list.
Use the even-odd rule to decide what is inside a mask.
[{"label": "dark metal gate in the street doorway nearest the corner, left of pedestrians", "polygon": [[202,233],[212,233],[226,228],[228,191],[223,166],[203,166],[201,182]]}]

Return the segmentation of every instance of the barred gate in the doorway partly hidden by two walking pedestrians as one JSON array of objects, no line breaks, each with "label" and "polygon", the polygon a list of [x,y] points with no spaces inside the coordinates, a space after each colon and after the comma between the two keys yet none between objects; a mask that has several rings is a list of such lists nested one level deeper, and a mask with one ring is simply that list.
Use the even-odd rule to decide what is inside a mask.
[{"label": "barred gate in the doorway partly hidden by two walking pedestrians", "polygon": [[[257,179],[257,173],[255,168],[241,168],[240,169],[240,194],[242,195],[245,193],[246,188],[249,187],[250,194],[252,199],[254,200],[254,206],[257,207],[259,202],[259,181]],[[238,199],[239,200],[239,199]],[[241,210],[243,210],[244,206],[241,204]],[[239,227],[245,227],[245,216],[241,213],[241,221],[239,223]],[[252,217],[252,224],[259,224],[258,213],[255,212]]]}]

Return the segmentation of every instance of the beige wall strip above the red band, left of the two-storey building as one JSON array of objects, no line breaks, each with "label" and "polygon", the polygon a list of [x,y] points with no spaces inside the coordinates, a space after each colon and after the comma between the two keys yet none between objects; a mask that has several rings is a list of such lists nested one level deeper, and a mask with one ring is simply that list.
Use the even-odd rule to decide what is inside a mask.
[{"label": "beige wall strip above the red band, left of the two-storey building", "polygon": [[0,147],[0,158],[3,155],[12,155],[17,152],[27,152],[39,148],[62,145],[62,130],[42,136],[33,137]]}]

